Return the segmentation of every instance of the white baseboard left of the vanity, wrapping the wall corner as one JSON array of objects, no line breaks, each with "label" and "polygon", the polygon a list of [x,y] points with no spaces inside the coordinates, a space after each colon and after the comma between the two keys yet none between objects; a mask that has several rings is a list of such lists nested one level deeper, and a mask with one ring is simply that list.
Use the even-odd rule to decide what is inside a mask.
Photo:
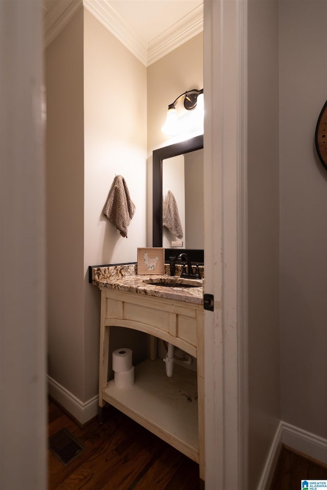
[{"label": "white baseboard left of the vanity, wrapping the wall corner", "polygon": [[46,377],[48,381],[48,393],[56,400],[65,410],[78,420],[81,424],[85,424],[93,419],[98,414],[99,397],[98,395],[91,398],[87,402],[81,402],[66,388],[61,386],[50,376]]}]

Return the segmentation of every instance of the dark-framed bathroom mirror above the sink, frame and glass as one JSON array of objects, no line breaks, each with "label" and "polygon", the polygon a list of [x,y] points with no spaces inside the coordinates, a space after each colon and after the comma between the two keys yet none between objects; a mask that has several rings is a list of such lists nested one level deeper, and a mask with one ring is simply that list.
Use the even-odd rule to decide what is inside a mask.
[{"label": "dark-framed bathroom mirror above the sink, frame and glass", "polygon": [[[164,146],[153,151],[153,247],[170,249],[172,241],[181,241],[181,247],[173,247],[174,253],[185,249],[203,262],[203,135]],[[182,156],[184,155],[184,158]],[[176,159],[176,157],[179,157]],[[198,157],[201,157],[198,159]],[[182,159],[182,162],[178,160]],[[180,167],[181,165],[181,167]],[[197,177],[195,175],[197,169]],[[165,174],[166,170],[166,174]],[[190,184],[190,185],[189,185]],[[162,228],[162,198],[168,190],[176,193],[180,212],[183,238],[174,236],[166,227]],[[178,203],[179,201],[179,203]],[[180,209],[179,209],[180,208]],[[185,212],[184,212],[185,208]],[[191,216],[191,219],[190,219]],[[196,224],[196,217],[198,224]],[[189,225],[191,223],[193,226]],[[191,228],[195,229],[195,233]],[[188,244],[189,234],[189,244]],[[195,251],[200,252],[200,256]],[[202,258],[202,259],[201,259]],[[192,260],[192,258],[191,258]]]}]

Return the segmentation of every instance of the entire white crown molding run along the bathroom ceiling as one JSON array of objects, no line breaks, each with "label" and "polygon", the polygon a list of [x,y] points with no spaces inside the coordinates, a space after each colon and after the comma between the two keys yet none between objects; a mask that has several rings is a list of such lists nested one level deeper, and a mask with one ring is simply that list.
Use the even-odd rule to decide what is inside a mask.
[{"label": "entire white crown molding run along the bathroom ceiling", "polygon": [[203,31],[203,8],[199,6],[148,44],[107,0],[66,0],[55,2],[44,15],[46,46],[53,41],[82,5],[145,66],[154,63]]}]

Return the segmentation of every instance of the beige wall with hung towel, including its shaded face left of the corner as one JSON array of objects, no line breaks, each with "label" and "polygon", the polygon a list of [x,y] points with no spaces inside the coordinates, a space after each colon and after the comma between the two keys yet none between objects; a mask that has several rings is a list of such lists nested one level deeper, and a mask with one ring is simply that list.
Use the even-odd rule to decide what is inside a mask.
[{"label": "beige wall with hung towel, including its shaded face left of the corner", "polygon": [[[46,50],[46,89],[49,376],[85,402],[99,371],[100,291],[88,266],[136,261],[146,246],[146,68],[80,9]],[[119,174],[136,207],[128,238],[103,216]],[[142,339],[128,339],[136,356]]]}]

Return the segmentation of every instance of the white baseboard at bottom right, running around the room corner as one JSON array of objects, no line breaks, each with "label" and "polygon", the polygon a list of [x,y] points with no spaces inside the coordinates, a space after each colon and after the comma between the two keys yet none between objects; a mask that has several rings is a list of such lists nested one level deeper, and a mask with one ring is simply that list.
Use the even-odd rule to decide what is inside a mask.
[{"label": "white baseboard at bottom right, running around the room corner", "polygon": [[279,422],[257,490],[268,490],[282,444],[327,464],[327,439]]}]

